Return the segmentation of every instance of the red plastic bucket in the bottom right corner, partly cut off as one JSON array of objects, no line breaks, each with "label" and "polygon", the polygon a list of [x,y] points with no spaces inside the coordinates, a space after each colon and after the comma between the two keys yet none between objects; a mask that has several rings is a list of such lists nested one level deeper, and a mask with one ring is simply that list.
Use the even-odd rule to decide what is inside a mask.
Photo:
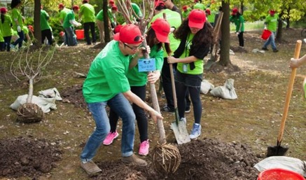
[{"label": "red plastic bucket in the bottom right corner, partly cut off", "polygon": [[266,169],[260,172],[258,180],[305,180],[304,177],[297,172],[293,172],[287,169],[274,168]]}]

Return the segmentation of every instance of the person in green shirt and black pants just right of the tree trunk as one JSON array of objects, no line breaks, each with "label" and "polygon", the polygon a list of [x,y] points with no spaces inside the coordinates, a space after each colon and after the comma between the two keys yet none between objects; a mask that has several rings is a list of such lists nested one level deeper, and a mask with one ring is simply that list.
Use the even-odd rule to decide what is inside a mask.
[{"label": "person in green shirt and black pants just right of the tree trunk", "polygon": [[230,15],[230,22],[233,22],[236,26],[236,34],[239,40],[239,48],[244,48],[244,18],[239,13],[237,8],[232,9],[232,15]]}]

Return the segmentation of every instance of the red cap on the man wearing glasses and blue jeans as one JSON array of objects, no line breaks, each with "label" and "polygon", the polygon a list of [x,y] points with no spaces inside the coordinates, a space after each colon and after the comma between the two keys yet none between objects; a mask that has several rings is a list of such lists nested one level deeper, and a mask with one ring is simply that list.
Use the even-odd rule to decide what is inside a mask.
[{"label": "red cap on the man wearing glasses and blue jeans", "polygon": [[121,27],[120,32],[116,33],[113,39],[130,44],[141,43],[143,41],[139,27],[132,24]]}]

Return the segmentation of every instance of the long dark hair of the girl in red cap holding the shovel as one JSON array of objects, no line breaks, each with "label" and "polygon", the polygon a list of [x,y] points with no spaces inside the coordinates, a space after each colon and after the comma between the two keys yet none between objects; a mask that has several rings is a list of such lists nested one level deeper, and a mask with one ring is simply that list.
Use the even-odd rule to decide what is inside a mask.
[{"label": "long dark hair of the girl in red cap holding the shovel", "polygon": [[[188,18],[186,20],[183,20],[181,26],[176,29],[174,32],[174,38],[175,39],[183,39],[183,37],[186,37],[187,34],[189,34],[190,27],[188,26]],[[200,29],[197,34],[193,37],[193,46],[201,45],[202,43],[212,43],[213,41],[213,28],[211,25],[209,25],[207,22],[204,23],[204,27]]]}]

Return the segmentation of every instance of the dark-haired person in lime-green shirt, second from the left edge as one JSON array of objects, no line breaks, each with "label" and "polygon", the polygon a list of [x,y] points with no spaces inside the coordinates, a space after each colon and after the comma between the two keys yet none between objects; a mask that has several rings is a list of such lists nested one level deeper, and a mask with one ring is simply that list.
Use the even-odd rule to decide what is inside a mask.
[{"label": "dark-haired person in lime-green shirt, second from the left edge", "polygon": [[12,0],[11,1],[11,18],[13,20],[13,30],[18,32],[19,38],[11,44],[11,49],[16,50],[16,46],[18,45],[18,49],[22,47],[22,41],[25,39],[25,33],[22,30],[23,22],[22,15],[20,13],[21,1],[20,0]]}]

